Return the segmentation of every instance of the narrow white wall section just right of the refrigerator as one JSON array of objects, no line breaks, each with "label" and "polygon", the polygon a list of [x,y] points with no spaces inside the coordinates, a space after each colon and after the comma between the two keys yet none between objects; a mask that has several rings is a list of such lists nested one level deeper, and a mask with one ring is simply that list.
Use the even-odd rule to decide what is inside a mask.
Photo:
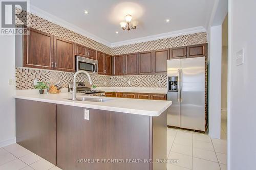
[{"label": "narrow white wall section just right of the refrigerator", "polygon": [[208,127],[212,138],[221,135],[221,58],[222,27],[214,26],[209,32]]}]

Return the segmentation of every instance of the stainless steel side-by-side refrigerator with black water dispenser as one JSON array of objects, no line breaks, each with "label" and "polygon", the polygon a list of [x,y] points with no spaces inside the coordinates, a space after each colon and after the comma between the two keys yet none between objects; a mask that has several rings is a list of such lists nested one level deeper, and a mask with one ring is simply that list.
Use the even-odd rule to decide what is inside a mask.
[{"label": "stainless steel side-by-side refrigerator with black water dispenser", "polygon": [[167,125],[205,131],[205,57],[167,60]]}]

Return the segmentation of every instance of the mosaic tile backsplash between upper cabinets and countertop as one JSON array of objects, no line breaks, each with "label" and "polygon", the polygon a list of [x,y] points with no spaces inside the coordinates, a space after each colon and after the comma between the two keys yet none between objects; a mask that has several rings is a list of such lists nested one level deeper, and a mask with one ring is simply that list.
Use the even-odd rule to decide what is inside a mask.
[{"label": "mosaic tile backsplash between upper cabinets and countertop", "polygon": [[[44,69],[16,68],[16,89],[34,89],[33,80],[54,84],[61,82],[63,88],[68,88],[72,82],[73,72],[63,72]],[[97,87],[166,87],[166,75],[136,75],[136,76],[103,76],[91,75]],[[86,75],[78,75],[77,81],[88,82]],[[130,81],[130,85],[128,84]],[[158,82],[161,82],[159,85]],[[105,83],[105,84],[104,84]]]}]

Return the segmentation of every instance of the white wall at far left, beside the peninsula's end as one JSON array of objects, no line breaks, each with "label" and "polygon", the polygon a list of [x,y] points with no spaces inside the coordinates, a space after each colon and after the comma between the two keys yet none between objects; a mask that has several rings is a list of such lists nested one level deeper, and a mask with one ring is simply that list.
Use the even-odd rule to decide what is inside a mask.
[{"label": "white wall at far left, beside the peninsula's end", "polygon": [[[15,37],[0,35],[0,148],[15,142]],[[14,85],[9,85],[13,79]]]}]

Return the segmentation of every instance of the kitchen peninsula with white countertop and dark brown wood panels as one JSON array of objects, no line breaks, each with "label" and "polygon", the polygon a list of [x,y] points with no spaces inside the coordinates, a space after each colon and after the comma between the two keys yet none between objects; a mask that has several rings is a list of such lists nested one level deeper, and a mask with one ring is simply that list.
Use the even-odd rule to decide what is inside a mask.
[{"label": "kitchen peninsula with white countertop and dark brown wood panels", "polygon": [[[16,142],[62,169],[166,168],[154,161],[166,159],[171,101],[81,95],[72,101],[70,93],[15,98]],[[107,163],[117,159],[124,162]]]}]

